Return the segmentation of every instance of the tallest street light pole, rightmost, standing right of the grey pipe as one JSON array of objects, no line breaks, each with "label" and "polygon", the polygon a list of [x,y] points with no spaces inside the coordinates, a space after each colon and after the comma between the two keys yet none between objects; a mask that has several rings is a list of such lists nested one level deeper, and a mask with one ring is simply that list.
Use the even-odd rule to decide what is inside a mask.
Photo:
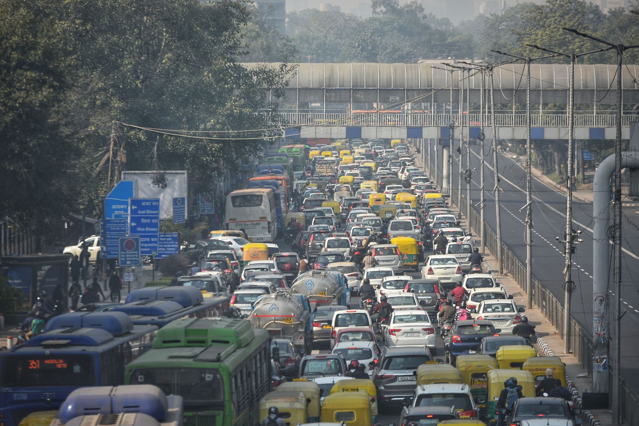
[{"label": "tallest street light pole, rightmost, standing right of the grey pipe", "polygon": [[[639,45],[633,46],[624,46],[620,43],[610,43],[606,42],[606,40],[602,40],[601,38],[593,37],[588,34],[580,33],[576,29],[565,28],[562,27],[565,31],[570,31],[571,33],[577,34],[578,36],[582,36],[585,38],[589,38],[590,40],[594,40],[595,42],[603,43],[607,45],[608,48],[601,49],[603,50],[616,50],[617,51],[617,114],[615,118],[615,127],[617,130],[617,135],[615,138],[615,196],[614,196],[614,222],[613,222],[613,252],[615,255],[615,263],[613,266],[613,280],[615,283],[615,314],[613,316],[614,330],[613,333],[613,358],[612,363],[610,363],[610,367],[612,368],[612,395],[610,400],[612,400],[612,424],[620,425],[622,422],[622,400],[621,400],[621,317],[623,313],[621,312],[621,102],[622,102],[622,92],[621,92],[621,77],[622,77],[622,59],[623,54],[628,49],[636,49]],[[594,52],[591,52],[594,53]],[[593,293],[597,290],[596,284],[603,283],[593,283]],[[604,285],[607,285],[605,283]],[[604,287],[605,288],[605,287]],[[606,294],[606,298],[608,297],[608,292],[604,291]],[[599,336],[596,337],[599,339]],[[593,377],[594,379],[594,377]],[[593,382],[593,386],[595,383]]]}]

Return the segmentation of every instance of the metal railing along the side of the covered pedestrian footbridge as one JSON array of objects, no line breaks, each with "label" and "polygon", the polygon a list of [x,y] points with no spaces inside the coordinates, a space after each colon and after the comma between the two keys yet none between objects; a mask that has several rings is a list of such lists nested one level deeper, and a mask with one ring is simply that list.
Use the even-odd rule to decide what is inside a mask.
[{"label": "metal railing along the side of the covered pedestrian footbridge", "polygon": [[[290,125],[300,126],[455,126],[466,125],[470,119],[471,126],[481,124],[480,114],[351,114],[323,112],[281,112]],[[621,125],[629,126],[636,115],[622,115]],[[532,114],[530,123],[533,127],[567,127],[566,114]],[[490,126],[491,117],[484,116],[484,126]],[[524,114],[495,114],[495,125],[504,127],[525,127]],[[576,114],[576,127],[614,127],[615,114]]]}]

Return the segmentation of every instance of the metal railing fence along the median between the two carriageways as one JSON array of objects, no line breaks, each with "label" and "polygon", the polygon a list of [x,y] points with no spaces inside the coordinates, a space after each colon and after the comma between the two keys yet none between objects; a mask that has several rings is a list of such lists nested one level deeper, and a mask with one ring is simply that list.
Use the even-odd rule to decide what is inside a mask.
[{"label": "metal railing fence along the median between the two carriageways", "polygon": [[[450,195],[451,202],[457,202],[458,190],[453,189]],[[466,199],[461,197],[460,215],[466,213]],[[475,210],[474,206],[470,209],[470,218],[467,218],[470,227],[475,231],[481,231],[481,227],[484,227],[484,233],[486,236],[486,247],[491,253],[496,254],[497,247],[497,235],[495,231],[486,223],[482,224],[479,213]],[[526,266],[512,253],[510,248],[505,244],[502,244],[502,262],[504,271],[508,271],[515,282],[524,288],[526,280]],[[544,285],[532,278],[532,301],[537,307],[541,309],[544,316],[550,321],[557,329],[559,335],[564,339],[563,333],[563,321],[564,321],[564,308],[555,296],[550,293]],[[570,319],[570,336],[569,336],[569,350],[580,361],[583,368],[588,370],[592,375],[592,355],[594,353],[594,343],[590,337],[590,332],[583,328],[577,321],[571,317]],[[639,395],[622,379],[621,381],[621,393],[622,399],[622,419],[627,425],[639,425]]]}]

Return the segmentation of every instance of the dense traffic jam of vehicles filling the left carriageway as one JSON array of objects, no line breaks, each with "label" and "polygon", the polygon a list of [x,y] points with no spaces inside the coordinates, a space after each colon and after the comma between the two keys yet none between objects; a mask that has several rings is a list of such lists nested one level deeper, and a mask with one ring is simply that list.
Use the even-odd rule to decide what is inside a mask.
[{"label": "dense traffic jam of vehicles filling the left carriageway", "polygon": [[515,335],[524,310],[460,225],[401,139],[284,146],[227,195],[225,229],[186,247],[199,272],[0,351],[2,426],[43,410],[75,425],[54,410],[86,386],[174,395],[155,420],[176,426],[371,426],[392,407],[403,426],[574,422],[539,392],[564,365]]}]

